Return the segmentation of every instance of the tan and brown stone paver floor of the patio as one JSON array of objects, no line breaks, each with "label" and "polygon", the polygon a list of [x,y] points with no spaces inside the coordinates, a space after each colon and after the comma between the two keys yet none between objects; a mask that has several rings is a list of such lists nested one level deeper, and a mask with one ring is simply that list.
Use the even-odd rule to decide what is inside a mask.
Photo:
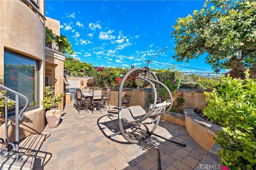
[{"label": "tan and brown stone paver floor of the patio", "polygon": [[[130,144],[122,135],[107,138],[118,130],[115,120],[107,111],[78,114],[66,106],[59,126],[27,137],[21,152],[35,157],[34,169],[157,169],[157,151],[146,143]],[[183,126],[161,121],[155,132],[187,145],[147,139],[160,149],[162,169],[193,169],[206,154]]]}]

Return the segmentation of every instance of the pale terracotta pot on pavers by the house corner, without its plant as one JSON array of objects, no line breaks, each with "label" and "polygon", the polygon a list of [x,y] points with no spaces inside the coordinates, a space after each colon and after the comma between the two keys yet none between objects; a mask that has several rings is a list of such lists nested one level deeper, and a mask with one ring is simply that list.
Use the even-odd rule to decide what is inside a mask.
[{"label": "pale terracotta pot on pavers by the house corner, without its plant", "polygon": [[56,128],[60,122],[61,111],[58,108],[52,108],[45,113],[49,128]]}]

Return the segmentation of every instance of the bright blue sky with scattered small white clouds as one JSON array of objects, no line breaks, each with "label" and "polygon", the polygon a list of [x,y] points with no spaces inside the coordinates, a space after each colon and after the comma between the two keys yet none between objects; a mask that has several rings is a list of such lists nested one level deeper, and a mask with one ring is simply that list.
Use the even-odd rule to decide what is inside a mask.
[{"label": "bright blue sky with scattered small white clouds", "polygon": [[[213,72],[205,56],[189,63],[176,62],[172,25],[179,17],[200,10],[204,1],[45,1],[46,16],[59,20],[75,54],[94,66],[141,66],[142,61],[94,54],[121,55],[148,60],[168,47],[155,61],[205,69],[176,67],[181,71]],[[167,69],[168,65],[150,64]]]}]

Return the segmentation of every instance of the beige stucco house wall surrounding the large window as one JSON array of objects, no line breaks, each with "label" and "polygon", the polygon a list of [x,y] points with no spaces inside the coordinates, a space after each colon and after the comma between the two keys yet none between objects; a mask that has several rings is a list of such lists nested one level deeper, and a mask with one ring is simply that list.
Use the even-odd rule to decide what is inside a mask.
[{"label": "beige stucco house wall surrounding the large window", "polygon": [[[44,1],[39,2],[44,14]],[[43,100],[45,69],[45,24],[21,1],[0,1],[0,75],[4,74],[4,49],[39,60],[39,105]],[[39,133],[45,127],[45,112],[39,108],[25,112],[20,137]],[[23,129],[23,130],[22,130]]]}]

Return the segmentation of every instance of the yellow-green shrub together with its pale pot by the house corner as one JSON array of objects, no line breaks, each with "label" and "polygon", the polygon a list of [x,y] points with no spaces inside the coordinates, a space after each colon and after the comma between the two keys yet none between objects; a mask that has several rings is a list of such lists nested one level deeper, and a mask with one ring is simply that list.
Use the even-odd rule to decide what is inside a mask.
[{"label": "yellow-green shrub together with its pale pot by the house corner", "polygon": [[46,111],[45,117],[49,128],[56,128],[60,122],[61,111],[58,105],[61,103],[64,94],[55,95],[53,88],[50,86],[44,89],[44,100],[42,105]]}]

